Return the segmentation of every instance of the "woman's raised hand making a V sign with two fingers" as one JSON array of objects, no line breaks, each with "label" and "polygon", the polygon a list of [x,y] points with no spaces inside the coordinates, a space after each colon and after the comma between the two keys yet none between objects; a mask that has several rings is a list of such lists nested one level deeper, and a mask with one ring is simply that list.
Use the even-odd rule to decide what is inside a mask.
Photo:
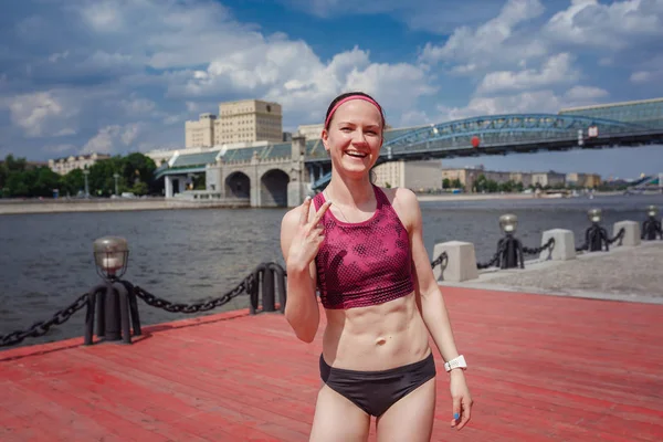
[{"label": "woman's raised hand making a V sign with two fingers", "polygon": [[311,198],[307,197],[299,207],[299,222],[288,249],[286,265],[293,270],[308,269],[308,265],[315,259],[320,244],[325,240],[320,220],[327,209],[329,209],[329,206],[332,206],[332,201],[325,201],[309,221],[311,201]]}]

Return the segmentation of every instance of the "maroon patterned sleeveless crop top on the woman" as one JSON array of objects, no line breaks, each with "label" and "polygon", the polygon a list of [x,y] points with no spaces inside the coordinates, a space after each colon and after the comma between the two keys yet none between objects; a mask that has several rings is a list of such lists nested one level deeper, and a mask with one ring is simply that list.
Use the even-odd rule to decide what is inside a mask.
[{"label": "maroon patterned sleeveless crop top on the woman", "polygon": [[[414,290],[408,231],[382,190],[373,191],[378,207],[370,219],[343,222],[327,210],[320,221],[325,240],[315,265],[325,308],[366,307]],[[325,197],[320,192],[313,201],[319,210]]]}]

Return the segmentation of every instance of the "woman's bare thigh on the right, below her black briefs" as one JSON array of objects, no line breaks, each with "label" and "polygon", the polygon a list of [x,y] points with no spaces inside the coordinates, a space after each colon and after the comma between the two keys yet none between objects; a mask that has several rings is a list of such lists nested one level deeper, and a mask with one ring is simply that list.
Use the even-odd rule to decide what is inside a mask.
[{"label": "woman's bare thigh on the right, below her black briefs", "polygon": [[378,418],[378,442],[429,442],[435,417],[435,378],[419,386]]}]

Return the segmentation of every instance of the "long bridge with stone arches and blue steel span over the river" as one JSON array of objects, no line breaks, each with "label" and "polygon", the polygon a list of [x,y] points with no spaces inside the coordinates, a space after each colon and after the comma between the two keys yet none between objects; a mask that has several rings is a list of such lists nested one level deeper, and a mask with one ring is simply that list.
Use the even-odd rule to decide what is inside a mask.
[{"label": "long bridge with stone arches and blue steel span over the river", "polygon": [[[558,114],[487,115],[386,131],[378,165],[394,160],[663,145],[663,98],[562,109]],[[166,197],[244,201],[251,207],[299,204],[325,188],[330,159],[319,138],[182,150],[157,177]],[[206,173],[204,191],[185,182]],[[178,186],[176,186],[176,182]]]}]

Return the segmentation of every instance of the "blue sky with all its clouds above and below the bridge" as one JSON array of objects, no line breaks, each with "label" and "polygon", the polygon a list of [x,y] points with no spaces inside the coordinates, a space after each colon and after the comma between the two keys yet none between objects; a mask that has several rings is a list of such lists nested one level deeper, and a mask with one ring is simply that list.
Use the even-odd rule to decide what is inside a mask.
[{"label": "blue sky with all its clouds above and below the bridge", "polygon": [[[0,15],[0,156],[182,147],[219,102],[284,130],[347,90],[392,126],[663,96],[663,0],[24,0]],[[660,147],[461,159],[501,170],[663,171]]]}]

